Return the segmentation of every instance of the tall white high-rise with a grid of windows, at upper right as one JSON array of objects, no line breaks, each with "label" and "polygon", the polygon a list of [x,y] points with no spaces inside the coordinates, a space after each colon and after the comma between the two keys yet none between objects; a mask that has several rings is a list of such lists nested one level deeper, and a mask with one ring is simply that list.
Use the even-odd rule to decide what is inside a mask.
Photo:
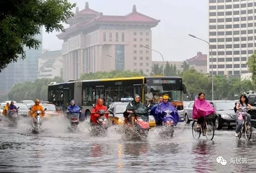
[{"label": "tall white high-rise with a grid of windows, at upper right", "polygon": [[[253,0],[209,0],[209,43],[211,58],[207,71],[238,75],[248,72],[247,58],[256,45]],[[208,56],[210,56],[210,50]]]}]

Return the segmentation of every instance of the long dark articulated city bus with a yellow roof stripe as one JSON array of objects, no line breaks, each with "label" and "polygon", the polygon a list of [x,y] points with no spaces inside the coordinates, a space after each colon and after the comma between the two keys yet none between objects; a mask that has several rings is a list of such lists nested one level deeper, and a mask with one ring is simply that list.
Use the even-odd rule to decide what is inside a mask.
[{"label": "long dark articulated city bus with a yellow roof stripe", "polygon": [[144,104],[155,104],[163,94],[170,96],[178,110],[183,110],[183,94],[186,87],[181,77],[139,76],[97,80],[77,80],[63,83],[52,82],[48,85],[48,101],[65,110],[70,100],[82,106],[83,113],[90,115],[92,104],[99,98],[108,106],[121,98],[141,97]]}]

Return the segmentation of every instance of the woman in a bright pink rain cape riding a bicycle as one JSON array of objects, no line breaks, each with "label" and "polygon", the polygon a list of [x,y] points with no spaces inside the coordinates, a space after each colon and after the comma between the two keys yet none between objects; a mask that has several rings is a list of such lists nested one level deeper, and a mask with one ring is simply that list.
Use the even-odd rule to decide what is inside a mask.
[{"label": "woman in a bright pink rain cape riding a bicycle", "polygon": [[197,119],[197,129],[201,129],[200,125],[204,122],[204,117],[208,115],[215,114],[214,107],[205,100],[204,93],[199,93],[198,98],[196,98],[193,107],[193,119]]}]

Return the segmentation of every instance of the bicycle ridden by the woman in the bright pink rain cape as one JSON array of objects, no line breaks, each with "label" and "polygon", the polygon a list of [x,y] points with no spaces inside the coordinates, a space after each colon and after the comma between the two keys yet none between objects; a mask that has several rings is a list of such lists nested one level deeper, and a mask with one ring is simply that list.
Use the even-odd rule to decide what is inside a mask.
[{"label": "bicycle ridden by the woman in the bright pink rain cape", "polygon": [[[204,117],[204,122],[200,125],[200,129],[197,129],[198,121],[194,120],[192,123],[192,135],[194,138],[200,138],[201,133],[203,136],[206,136],[206,139],[214,139],[214,123],[212,120],[214,119],[214,115],[208,115]],[[198,136],[198,137],[197,137]]]}]

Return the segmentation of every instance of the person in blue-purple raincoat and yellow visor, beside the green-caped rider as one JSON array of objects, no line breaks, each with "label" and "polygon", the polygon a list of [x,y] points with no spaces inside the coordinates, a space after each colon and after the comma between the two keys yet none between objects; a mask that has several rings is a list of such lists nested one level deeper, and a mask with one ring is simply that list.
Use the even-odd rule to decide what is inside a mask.
[{"label": "person in blue-purple raincoat and yellow visor, beside the green-caped rider", "polygon": [[177,124],[179,122],[179,114],[176,110],[176,107],[168,102],[169,101],[169,95],[168,94],[164,94],[163,95],[163,102],[159,104],[159,106],[157,107],[155,113],[156,113],[156,125],[161,125],[164,119],[164,111],[165,110],[173,110],[174,114],[172,114],[172,119],[173,119],[173,124]]}]

